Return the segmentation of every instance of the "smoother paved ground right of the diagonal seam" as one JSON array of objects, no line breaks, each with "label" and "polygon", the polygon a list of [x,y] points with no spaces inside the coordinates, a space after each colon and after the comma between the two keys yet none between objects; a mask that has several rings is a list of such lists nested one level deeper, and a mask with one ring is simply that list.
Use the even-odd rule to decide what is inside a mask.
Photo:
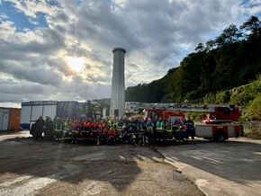
[{"label": "smoother paved ground right of the diagonal seam", "polygon": [[196,145],[157,150],[206,195],[261,195],[261,140],[229,138],[214,143],[198,139]]}]

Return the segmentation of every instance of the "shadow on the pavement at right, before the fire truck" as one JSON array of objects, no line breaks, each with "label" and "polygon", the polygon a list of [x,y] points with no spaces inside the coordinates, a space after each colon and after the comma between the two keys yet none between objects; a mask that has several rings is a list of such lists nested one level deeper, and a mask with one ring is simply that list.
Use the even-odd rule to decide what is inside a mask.
[{"label": "shadow on the pavement at right, before the fire truck", "polygon": [[191,165],[235,183],[260,181],[261,141],[235,140],[215,143],[197,141],[196,145],[159,148],[169,162]]}]

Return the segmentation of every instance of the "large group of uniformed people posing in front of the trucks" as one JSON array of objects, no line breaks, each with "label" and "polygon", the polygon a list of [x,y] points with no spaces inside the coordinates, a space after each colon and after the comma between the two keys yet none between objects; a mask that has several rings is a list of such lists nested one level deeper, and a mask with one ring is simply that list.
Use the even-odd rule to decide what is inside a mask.
[{"label": "large group of uniformed people posing in front of the trucks", "polygon": [[144,120],[142,117],[104,117],[96,120],[86,116],[42,117],[31,126],[31,135],[38,139],[63,140],[70,143],[94,143],[97,145],[115,143],[147,145],[155,142],[184,142],[191,136],[194,143],[194,123],[185,120]]}]

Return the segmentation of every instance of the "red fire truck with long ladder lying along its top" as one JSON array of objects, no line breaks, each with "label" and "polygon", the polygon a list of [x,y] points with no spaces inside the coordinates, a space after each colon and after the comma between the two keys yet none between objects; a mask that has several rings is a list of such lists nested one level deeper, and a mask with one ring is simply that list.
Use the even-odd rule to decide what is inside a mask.
[{"label": "red fire truck with long ladder lying along its top", "polygon": [[[240,117],[240,110],[235,105],[189,104],[189,103],[129,103],[132,109],[143,113],[146,119],[162,117],[171,121],[184,120],[186,112],[203,112],[202,123],[195,124],[197,138],[224,141],[228,138],[238,138],[243,134],[243,127],[236,122]],[[128,104],[126,104],[128,106]],[[130,109],[129,109],[130,111]]]}]

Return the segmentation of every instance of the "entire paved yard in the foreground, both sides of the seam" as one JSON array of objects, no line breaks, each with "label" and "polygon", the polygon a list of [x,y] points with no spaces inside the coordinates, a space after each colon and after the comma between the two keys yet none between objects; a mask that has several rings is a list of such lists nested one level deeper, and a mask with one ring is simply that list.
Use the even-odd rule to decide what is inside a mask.
[{"label": "entire paved yard in the foreground, both sides of the seam", "polygon": [[0,195],[261,195],[261,140],[94,146],[0,135]]}]

